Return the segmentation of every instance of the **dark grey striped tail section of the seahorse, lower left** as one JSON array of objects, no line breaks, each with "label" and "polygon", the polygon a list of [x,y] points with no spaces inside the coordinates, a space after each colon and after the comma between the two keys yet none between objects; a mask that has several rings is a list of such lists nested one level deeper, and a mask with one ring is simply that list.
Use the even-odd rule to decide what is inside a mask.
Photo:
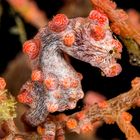
[{"label": "dark grey striped tail section of the seahorse, lower left", "polygon": [[[32,90],[29,88],[31,86]],[[36,124],[40,124],[48,115],[47,108],[45,107],[46,96],[44,94],[44,87],[39,82],[28,81],[22,87],[21,91],[25,89],[30,93],[29,96],[33,98],[33,103],[28,104],[30,109],[24,114],[25,120],[32,126],[35,126]]]}]

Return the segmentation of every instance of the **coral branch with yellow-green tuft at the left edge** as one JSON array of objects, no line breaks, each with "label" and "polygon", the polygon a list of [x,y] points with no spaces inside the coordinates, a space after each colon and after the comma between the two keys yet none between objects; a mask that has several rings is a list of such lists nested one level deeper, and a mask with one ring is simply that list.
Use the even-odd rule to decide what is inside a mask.
[{"label": "coral branch with yellow-green tuft at the left edge", "polygon": [[6,135],[3,140],[13,139],[19,131],[14,123],[16,117],[15,99],[5,89],[6,82],[0,77],[0,127]]}]

